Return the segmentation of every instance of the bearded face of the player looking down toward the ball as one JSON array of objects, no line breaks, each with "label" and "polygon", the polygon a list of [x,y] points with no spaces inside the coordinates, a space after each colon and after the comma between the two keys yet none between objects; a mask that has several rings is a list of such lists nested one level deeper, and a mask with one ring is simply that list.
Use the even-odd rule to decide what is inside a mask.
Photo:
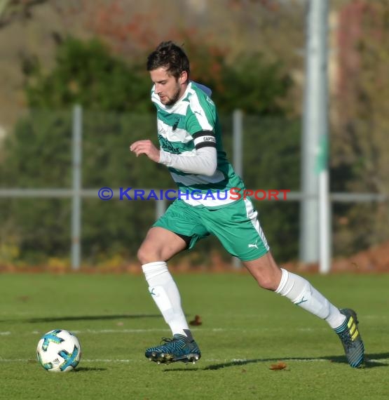
[{"label": "bearded face of the player looking down toward the ball", "polygon": [[174,105],[186,90],[187,74],[185,71],[176,79],[164,67],[160,67],[150,71],[150,76],[156,86],[155,93],[163,105]]}]

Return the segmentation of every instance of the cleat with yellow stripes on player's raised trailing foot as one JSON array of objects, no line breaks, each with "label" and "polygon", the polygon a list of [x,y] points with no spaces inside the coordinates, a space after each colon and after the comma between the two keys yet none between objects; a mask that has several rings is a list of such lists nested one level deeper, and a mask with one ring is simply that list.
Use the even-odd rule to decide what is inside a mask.
[{"label": "cleat with yellow stripes on player's raised trailing foot", "polygon": [[336,328],[335,332],[342,342],[348,364],[353,368],[360,368],[364,362],[364,345],[358,330],[357,314],[350,308],[343,308],[339,311],[346,316],[346,321]]}]

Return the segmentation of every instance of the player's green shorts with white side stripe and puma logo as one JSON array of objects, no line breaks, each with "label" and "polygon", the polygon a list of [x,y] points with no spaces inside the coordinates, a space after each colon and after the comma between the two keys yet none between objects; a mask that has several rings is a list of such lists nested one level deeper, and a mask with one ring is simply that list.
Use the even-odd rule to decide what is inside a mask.
[{"label": "player's green shorts with white side stripe and puma logo", "polygon": [[188,248],[214,234],[228,253],[240,260],[250,261],[269,251],[257,215],[250,199],[237,200],[216,210],[193,207],[177,199],[153,227],[189,237]]}]

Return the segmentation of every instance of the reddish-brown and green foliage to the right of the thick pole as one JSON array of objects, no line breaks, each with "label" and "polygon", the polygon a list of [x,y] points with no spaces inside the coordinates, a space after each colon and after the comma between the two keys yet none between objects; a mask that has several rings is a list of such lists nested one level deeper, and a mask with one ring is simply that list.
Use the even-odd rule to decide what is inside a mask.
[{"label": "reddish-brown and green foliage to the right of the thick pole", "polygon": [[[351,2],[341,9],[332,120],[336,191],[388,195],[388,21],[388,1]],[[387,240],[388,211],[388,203],[336,206],[336,251],[351,253]]]}]

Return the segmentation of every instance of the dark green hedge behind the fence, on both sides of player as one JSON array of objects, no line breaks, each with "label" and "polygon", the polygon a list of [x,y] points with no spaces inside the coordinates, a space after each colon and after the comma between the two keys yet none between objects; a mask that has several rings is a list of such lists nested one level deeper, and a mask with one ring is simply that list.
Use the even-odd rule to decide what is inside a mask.
[{"label": "dark green hedge behind the fence, on both sides of player", "polygon": [[[270,180],[272,171],[274,177],[285,177],[282,188],[298,181],[299,131],[295,123],[285,120],[280,103],[290,86],[288,76],[278,65],[266,63],[260,56],[239,58],[229,65],[219,49],[201,47],[196,51],[190,39],[185,48],[193,60],[193,77],[217,88],[214,96],[220,105],[230,155],[231,111],[240,107],[252,114],[252,119],[247,116],[250,123],[245,127],[245,175],[250,187],[266,189],[264,182],[274,185],[275,180]],[[0,176],[4,184],[70,187],[70,110],[79,103],[84,107],[83,187],[172,187],[163,166],[150,163],[145,157],[135,159],[128,152],[128,145],[134,140],[154,138],[156,142],[145,57],[142,62],[124,62],[97,39],[84,42],[68,38],[59,42],[55,60],[55,67],[48,72],[36,60],[24,67],[27,100],[33,112],[20,119],[15,134],[6,141]],[[261,98],[252,97],[251,90],[260,95],[261,88]],[[275,140],[280,135],[287,140]],[[42,262],[53,253],[67,255],[69,201],[37,203],[29,199],[12,201],[6,208],[5,216],[12,216],[13,222],[6,218],[4,226],[12,233],[9,236],[17,238],[22,258]],[[268,206],[266,211],[268,239],[283,234],[283,241],[273,250],[283,259],[291,258],[296,255],[296,241],[292,239],[296,237],[296,211],[291,208],[281,216],[274,210]],[[85,199],[82,240],[88,262],[95,264],[117,254],[135,258],[153,214],[153,202],[104,203],[97,196]],[[286,238],[290,246],[285,246]],[[212,246],[214,241],[205,241],[198,251],[209,251]]]}]

